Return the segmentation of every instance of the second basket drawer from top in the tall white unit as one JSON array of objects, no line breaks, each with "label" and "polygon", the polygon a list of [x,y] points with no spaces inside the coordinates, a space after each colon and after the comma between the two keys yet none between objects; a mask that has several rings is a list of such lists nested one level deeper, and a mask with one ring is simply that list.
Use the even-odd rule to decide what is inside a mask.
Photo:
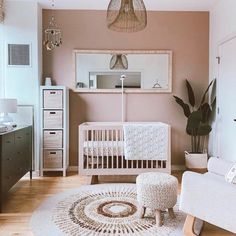
[{"label": "second basket drawer from top in the tall white unit", "polygon": [[45,129],[63,128],[63,111],[44,111],[43,127]]}]

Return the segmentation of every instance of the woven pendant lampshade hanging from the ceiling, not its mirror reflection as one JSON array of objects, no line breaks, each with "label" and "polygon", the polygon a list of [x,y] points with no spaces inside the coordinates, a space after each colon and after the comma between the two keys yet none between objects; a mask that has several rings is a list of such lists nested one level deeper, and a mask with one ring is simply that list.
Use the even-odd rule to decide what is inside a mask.
[{"label": "woven pendant lampshade hanging from the ceiling, not its mirror reflection", "polygon": [[107,26],[119,32],[137,32],[147,25],[143,0],[111,0],[107,9]]}]

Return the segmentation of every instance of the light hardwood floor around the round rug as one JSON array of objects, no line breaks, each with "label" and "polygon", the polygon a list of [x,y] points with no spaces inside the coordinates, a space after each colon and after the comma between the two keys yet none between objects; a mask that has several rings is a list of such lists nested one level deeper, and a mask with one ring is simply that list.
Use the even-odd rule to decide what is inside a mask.
[{"label": "light hardwood floor around the round rug", "polygon": [[[174,173],[181,180],[181,173]],[[102,177],[100,182],[134,182],[135,177]],[[0,214],[0,235],[1,236],[33,236],[30,229],[30,217],[33,211],[48,197],[66,191],[71,188],[78,188],[87,184],[87,177],[80,177],[77,173],[69,173],[68,177],[59,175],[47,177],[35,177],[32,181],[29,178],[20,180],[9,192],[8,199],[3,206],[3,213]],[[179,188],[180,191],[180,188]],[[232,236],[210,224],[205,224],[202,236]]]}]

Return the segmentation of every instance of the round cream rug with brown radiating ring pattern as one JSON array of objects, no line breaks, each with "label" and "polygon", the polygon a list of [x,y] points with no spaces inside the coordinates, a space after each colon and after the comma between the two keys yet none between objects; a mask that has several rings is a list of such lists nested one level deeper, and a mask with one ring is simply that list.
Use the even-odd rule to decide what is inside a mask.
[{"label": "round cream rug with brown radiating ring pattern", "polygon": [[174,208],[176,218],[164,212],[157,227],[154,212],[140,219],[135,184],[82,186],[48,198],[31,218],[35,236],[180,236],[186,215]]}]

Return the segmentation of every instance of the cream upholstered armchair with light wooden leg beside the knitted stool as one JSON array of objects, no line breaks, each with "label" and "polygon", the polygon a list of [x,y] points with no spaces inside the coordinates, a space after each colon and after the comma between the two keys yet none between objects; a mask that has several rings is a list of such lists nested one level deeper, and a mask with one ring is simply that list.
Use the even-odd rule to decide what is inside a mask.
[{"label": "cream upholstered armchair with light wooden leg beside the knitted stool", "polygon": [[187,213],[184,235],[198,235],[195,220],[201,219],[236,234],[236,185],[225,181],[233,163],[218,158],[208,162],[208,172],[185,172],[180,210]]}]

